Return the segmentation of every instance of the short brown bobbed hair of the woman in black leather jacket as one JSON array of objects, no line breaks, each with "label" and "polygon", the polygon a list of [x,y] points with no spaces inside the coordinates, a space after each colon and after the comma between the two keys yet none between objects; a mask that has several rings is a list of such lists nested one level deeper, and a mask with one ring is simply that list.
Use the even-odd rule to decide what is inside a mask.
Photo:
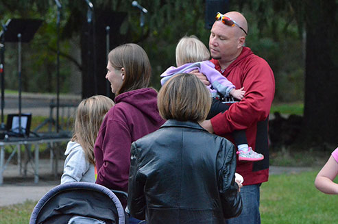
[{"label": "short brown bobbed hair of the woman in black leather jacket", "polygon": [[160,88],[157,105],[163,119],[198,122],[206,119],[211,97],[196,75],[179,73]]}]

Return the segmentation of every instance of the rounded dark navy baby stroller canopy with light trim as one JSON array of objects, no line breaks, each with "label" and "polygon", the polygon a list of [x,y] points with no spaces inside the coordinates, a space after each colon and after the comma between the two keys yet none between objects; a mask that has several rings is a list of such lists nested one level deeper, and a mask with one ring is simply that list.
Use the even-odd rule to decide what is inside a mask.
[{"label": "rounded dark navy baby stroller canopy with light trim", "polygon": [[36,204],[29,224],[125,224],[121,202],[108,188],[73,182],[49,190]]}]

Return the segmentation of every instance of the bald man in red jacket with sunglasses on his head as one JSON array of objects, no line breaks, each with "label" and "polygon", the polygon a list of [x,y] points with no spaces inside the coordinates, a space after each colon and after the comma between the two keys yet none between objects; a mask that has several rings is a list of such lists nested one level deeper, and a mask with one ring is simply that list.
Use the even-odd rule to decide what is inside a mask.
[{"label": "bald man in red jacket with sunglasses on his head", "polygon": [[[241,188],[243,211],[227,222],[261,223],[259,188],[269,177],[268,117],[274,99],[274,73],[263,58],[244,47],[248,23],[239,12],[217,14],[210,32],[209,49],[215,69],[226,77],[236,89],[244,87],[245,97],[233,103],[226,112],[201,123],[211,133],[233,140],[234,130],[246,129],[248,145],[264,155],[259,162],[239,162],[237,173],[244,178]],[[202,73],[195,73],[208,84]]]}]

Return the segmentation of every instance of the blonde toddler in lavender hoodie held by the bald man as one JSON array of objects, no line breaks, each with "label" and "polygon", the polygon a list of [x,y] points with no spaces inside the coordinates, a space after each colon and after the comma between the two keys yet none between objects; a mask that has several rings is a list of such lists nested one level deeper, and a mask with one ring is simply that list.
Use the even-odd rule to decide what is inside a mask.
[{"label": "blonde toddler in lavender hoodie held by the bald man", "polygon": [[[206,75],[210,82],[207,87],[210,90],[211,97],[213,97],[213,103],[206,119],[211,119],[213,116],[230,108],[228,103],[221,101],[224,97],[232,96],[241,100],[245,95],[244,88],[236,89],[226,77],[215,69],[215,65],[209,61],[209,58],[210,53],[202,41],[196,36],[184,36],[176,46],[176,64],[178,67],[171,66],[160,75],[162,77],[161,85],[165,84],[170,77],[177,73],[189,73],[197,69],[200,73]],[[237,152],[239,161],[259,161],[264,159],[264,155],[256,153],[252,150],[252,147],[248,146],[245,130],[236,130],[232,132],[232,136],[239,150]]]}]

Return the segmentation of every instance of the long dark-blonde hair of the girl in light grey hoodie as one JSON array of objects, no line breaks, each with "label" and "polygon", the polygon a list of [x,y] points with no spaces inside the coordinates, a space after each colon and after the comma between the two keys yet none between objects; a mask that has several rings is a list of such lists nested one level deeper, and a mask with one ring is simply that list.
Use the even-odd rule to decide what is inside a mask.
[{"label": "long dark-blonde hair of the girl in light grey hoodie", "polygon": [[86,159],[95,165],[94,144],[104,116],[114,105],[114,101],[105,96],[93,96],[81,101],[76,110],[73,142],[82,146]]}]

